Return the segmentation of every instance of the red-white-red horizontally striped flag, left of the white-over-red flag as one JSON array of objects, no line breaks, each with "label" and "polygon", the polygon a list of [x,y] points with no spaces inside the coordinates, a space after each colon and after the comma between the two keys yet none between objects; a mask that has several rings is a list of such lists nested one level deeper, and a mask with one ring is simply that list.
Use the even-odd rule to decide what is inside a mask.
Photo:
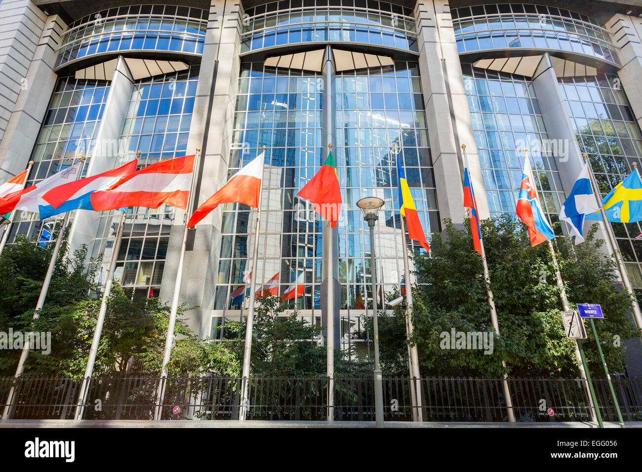
[{"label": "red-white-red horizontally striped flag, left of the white-over-red flag", "polygon": [[187,155],[144,167],[107,191],[92,193],[92,207],[95,211],[105,211],[124,207],[158,208],[166,203],[186,209],[194,159],[194,155]]}]

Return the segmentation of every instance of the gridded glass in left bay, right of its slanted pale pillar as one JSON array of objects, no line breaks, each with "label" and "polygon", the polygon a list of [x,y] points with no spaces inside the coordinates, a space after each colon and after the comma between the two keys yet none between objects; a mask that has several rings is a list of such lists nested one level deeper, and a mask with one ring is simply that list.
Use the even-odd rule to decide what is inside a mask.
[{"label": "gridded glass in left bay, right of its slanted pale pillar", "polygon": [[[198,66],[188,71],[138,80],[129,102],[121,140],[122,148],[141,152],[138,166],[143,168],[161,159],[193,153],[187,150],[192,119]],[[121,157],[119,163],[129,161]],[[152,288],[158,295],[167,256],[169,232],[176,210],[169,205],[157,209],[130,208],[116,264],[116,277],[146,296]],[[120,212],[103,212],[92,256],[103,254],[103,270],[114,242]]]}]

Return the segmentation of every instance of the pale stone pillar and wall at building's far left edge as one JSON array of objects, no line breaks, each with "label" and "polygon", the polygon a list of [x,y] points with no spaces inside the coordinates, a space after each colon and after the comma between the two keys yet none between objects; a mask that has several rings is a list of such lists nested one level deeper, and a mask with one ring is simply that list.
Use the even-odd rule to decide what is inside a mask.
[{"label": "pale stone pillar and wall at building's far left edge", "polygon": [[67,25],[28,0],[0,4],[0,182],[26,169],[58,76]]}]

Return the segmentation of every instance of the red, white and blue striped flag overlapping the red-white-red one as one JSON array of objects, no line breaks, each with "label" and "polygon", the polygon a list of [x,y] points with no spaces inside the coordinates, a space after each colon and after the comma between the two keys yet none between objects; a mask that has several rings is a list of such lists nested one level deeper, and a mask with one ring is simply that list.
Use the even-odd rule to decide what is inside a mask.
[{"label": "red, white and blue striped flag overlapping the red-white-red one", "polygon": [[108,170],[85,179],[73,180],[42,195],[49,205],[40,205],[40,220],[66,213],[71,210],[94,210],[91,194],[94,191],[107,190],[126,177],[134,175],[138,161],[127,162],[116,169]]}]

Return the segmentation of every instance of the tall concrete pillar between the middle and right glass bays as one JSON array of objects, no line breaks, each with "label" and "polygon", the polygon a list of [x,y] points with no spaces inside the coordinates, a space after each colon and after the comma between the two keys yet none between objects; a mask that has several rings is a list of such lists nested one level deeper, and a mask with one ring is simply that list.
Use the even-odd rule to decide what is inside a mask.
[{"label": "tall concrete pillar between the middle and right glass bays", "polygon": [[440,218],[465,218],[461,144],[466,144],[480,218],[489,218],[482,170],[473,135],[453,22],[445,0],[422,0],[415,6],[419,70],[426,102]]}]

